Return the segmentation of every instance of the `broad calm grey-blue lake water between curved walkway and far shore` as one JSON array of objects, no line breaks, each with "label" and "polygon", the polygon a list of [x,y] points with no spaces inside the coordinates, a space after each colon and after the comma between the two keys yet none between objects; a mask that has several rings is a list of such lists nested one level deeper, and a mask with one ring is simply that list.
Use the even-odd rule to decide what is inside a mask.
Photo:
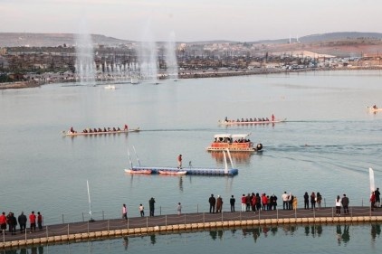
[{"label": "broad calm grey-blue lake water between curved walkway and far shore", "polygon": [[[118,89],[44,85],[0,91],[0,210],[41,211],[45,224],[89,217],[86,181],[94,219],[129,216],[155,197],[156,212],[206,212],[211,193],[284,191],[302,198],[320,192],[327,206],[347,193],[350,205],[368,205],[368,168],[380,185],[381,71],[320,71],[219,79],[118,84]],[[222,127],[218,119],[287,118],[272,126]],[[74,127],[140,127],[115,136],[62,136]],[[142,165],[224,166],[205,147],[219,133],[251,133],[263,153],[239,155],[234,177],[130,175],[128,149]],[[301,206],[301,203],[300,203]],[[62,219],[63,218],[63,219]]]}]

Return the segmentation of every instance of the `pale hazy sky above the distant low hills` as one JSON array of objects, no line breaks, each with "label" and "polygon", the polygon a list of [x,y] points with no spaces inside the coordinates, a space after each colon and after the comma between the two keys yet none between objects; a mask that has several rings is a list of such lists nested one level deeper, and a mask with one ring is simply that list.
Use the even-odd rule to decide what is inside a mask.
[{"label": "pale hazy sky above the distant low hills", "polygon": [[381,15],[381,0],[0,0],[0,33],[81,33],[85,21],[126,40],[249,42],[382,33]]}]

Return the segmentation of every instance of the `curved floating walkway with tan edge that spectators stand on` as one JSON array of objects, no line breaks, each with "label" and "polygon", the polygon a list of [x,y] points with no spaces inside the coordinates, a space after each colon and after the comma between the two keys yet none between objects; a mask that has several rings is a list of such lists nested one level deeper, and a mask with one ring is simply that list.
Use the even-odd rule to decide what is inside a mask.
[{"label": "curved floating walkway with tan edge that spectators stand on", "polygon": [[[342,212],[342,211],[341,211]],[[27,245],[58,243],[119,236],[147,235],[156,232],[185,230],[211,230],[231,227],[256,227],[279,224],[313,223],[369,223],[382,221],[382,208],[371,211],[369,207],[350,207],[349,214],[335,213],[335,208],[320,210],[273,210],[260,212],[184,213],[153,217],[135,217],[128,220],[112,219],[47,225],[43,230],[30,233],[17,231],[3,234],[0,249]]]}]

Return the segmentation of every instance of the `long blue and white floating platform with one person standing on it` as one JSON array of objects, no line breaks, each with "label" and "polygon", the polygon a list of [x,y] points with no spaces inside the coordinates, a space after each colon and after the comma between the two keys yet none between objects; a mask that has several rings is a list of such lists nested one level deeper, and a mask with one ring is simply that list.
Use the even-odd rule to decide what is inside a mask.
[{"label": "long blue and white floating platform with one person standing on it", "polygon": [[[170,166],[132,166],[130,171],[144,172],[151,170],[151,174],[159,174],[159,171],[166,171],[168,173],[181,173],[186,171],[186,174],[199,174],[199,175],[229,175],[234,176],[239,173],[237,168],[207,168],[207,167],[170,167]],[[125,170],[126,171],[126,170]],[[131,172],[130,172],[131,173]],[[180,174],[179,174],[180,175]]]}]

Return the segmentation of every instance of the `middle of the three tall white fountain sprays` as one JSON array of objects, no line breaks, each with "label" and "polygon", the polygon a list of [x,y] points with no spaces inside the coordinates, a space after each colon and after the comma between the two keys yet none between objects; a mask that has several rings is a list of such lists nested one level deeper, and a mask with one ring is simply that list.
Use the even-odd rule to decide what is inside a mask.
[{"label": "middle of the three tall white fountain sprays", "polygon": [[158,52],[149,24],[144,30],[139,47],[139,73],[143,80],[158,83]]}]

